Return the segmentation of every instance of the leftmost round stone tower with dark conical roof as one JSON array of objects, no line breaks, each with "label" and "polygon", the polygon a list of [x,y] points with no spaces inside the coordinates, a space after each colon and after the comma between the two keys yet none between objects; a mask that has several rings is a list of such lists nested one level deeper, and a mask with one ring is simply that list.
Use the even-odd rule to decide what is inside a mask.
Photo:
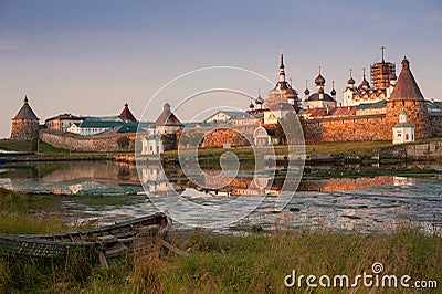
[{"label": "leftmost round stone tower with dark conical roof", "polygon": [[39,118],[24,97],[23,106],[12,118],[11,139],[13,140],[33,140],[39,138]]}]

